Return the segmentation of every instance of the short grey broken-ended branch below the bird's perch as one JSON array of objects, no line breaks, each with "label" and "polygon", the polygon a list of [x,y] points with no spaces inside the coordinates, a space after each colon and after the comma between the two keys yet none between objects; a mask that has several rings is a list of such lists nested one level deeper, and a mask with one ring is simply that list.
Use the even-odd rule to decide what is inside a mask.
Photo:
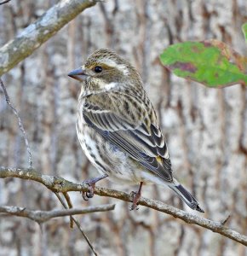
[{"label": "short grey broken-ended branch below the bird's perch", "polygon": [[[113,210],[115,205],[102,205],[96,207],[86,207],[83,209],[79,208],[70,208],[65,210],[53,210],[53,211],[32,211],[24,207],[7,207],[0,206],[1,213],[8,213],[14,216],[30,218],[36,221],[38,224],[43,224],[51,218],[72,216],[78,214],[85,214],[91,212],[106,212]],[[1,215],[0,215],[1,216]]]}]

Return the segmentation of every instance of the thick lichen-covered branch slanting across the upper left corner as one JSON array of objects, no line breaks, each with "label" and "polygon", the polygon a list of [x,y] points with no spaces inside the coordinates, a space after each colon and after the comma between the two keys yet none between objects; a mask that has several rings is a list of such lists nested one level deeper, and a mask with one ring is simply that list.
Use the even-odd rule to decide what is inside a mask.
[{"label": "thick lichen-covered branch slanting across the upper left corner", "polygon": [[99,0],[60,1],[37,21],[27,26],[14,40],[0,49],[0,76],[24,60],[28,55],[55,35],[70,20],[94,6]]}]

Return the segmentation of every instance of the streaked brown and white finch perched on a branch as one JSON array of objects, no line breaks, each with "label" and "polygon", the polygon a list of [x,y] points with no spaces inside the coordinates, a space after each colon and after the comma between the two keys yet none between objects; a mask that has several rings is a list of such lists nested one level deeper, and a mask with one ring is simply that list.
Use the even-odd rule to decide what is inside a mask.
[{"label": "streaked brown and white finch perched on a branch", "polygon": [[158,116],[135,67],[112,49],[98,49],[68,76],[82,85],[76,121],[79,143],[101,173],[87,180],[87,197],[93,196],[95,183],[107,177],[115,183],[139,184],[132,210],[138,209],[143,185],[158,184],[204,212],[174,177]]}]

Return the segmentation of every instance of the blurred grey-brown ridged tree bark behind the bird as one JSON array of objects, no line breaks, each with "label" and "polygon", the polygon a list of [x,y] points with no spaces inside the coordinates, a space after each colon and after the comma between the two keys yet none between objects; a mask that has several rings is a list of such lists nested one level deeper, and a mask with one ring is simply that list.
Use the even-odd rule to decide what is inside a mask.
[{"label": "blurred grey-brown ridged tree bark behind the bird", "polygon": [[[0,44],[6,44],[53,6],[55,0],[11,1],[0,7]],[[25,61],[3,75],[31,144],[33,165],[42,173],[74,182],[95,177],[78,143],[75,120],[80,85],[67,77],[95,49],[110,48],[139,70],[167,138],[175,176],[204,208],[205,218],[227,223],[247,235],[247,90],[221,90],[179,79],[161,66],[169,44],[219,39],[246,53],[241,25],[244,0],[108,0],[86,9]],[[26,146],[0,90],[0,166],[28,166]],[[130,192],[106,180],[106,188]],[[113,212],[79,218],[100,255],[239,255],[247,248],[210,230],[185,224],[146,207],[95,197],[86,202],[70,193],[75,207],[114,202]],[[185,209],[169,189],[145,186],[143,196]],[[61,208],[48,189],[17,178],[0,179],[0,205],[32,210]],[[199,214],[193,212],[194,214]],[[31,220],[0,216],[0,255],[91,255],[68,218],[42,230]]]}]

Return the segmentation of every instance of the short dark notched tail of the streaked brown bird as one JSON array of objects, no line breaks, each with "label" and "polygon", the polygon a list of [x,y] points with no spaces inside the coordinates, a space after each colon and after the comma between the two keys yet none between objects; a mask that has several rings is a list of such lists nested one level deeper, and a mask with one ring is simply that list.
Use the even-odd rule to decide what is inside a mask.
[{"label": "short dark notched tail of the streaked brown bird", "polygon": [[185,201],[188,207],[191,207],[193,210],[198,212],[204,212],[202,208],[199,207],[198,201],[191,195],[186,188],[184,188],[181,183],[178,183],[175,180],[175,183],[169,184],[169,188],[175,191],[175,193],[181,198],[182,201]]}]

